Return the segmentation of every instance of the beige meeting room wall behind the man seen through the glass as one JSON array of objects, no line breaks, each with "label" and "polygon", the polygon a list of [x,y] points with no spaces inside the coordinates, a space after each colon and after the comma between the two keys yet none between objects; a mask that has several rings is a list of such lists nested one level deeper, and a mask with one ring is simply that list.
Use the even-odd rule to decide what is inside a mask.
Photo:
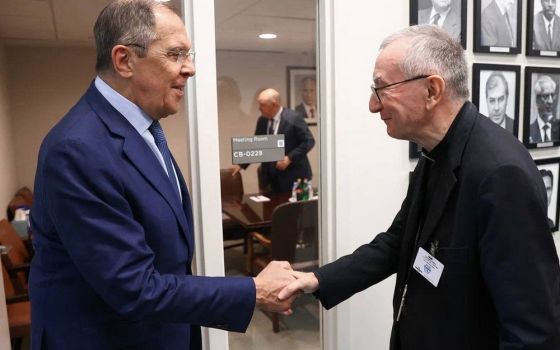
[{"label": "beige meeting room wall behind the man seen through the glass", "polygon": [[[312,48],[311,48],[312,49]],[[256,96],[264,88],[274,88],[282,96],[282,104],[287,106],[286,67],[315,66],[315,56],[307,52],[301,54],[274,52],[218,51],[218,122],[220,134],[220,168],[231,167],[231,137],[249,136],[255,132],[260,113]],[[231,83],[237,83],[240,100],[234,101]],[[227,88],[226,88],[227,87]],[[228,91],[229,90],[229,91]],[[230,93],[228,93],[230,92]],[[318,156],[319,138],[317,126],[310,126],[316,145],[308,154],[313,171],[314,184],[319,178]],[[258,192],[257,164],[250,166],[243,175],[246,193]]]}]

